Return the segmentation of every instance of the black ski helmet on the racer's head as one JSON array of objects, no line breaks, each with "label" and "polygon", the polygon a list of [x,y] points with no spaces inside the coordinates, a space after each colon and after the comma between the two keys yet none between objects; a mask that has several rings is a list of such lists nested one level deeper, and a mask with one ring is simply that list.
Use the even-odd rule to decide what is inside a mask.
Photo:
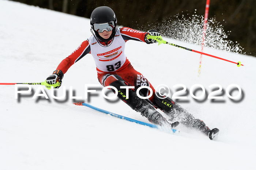
[{"label": "black ski helmet on the racer's head", "polygon": [[[113,21],[114,22],[114,28],[112,29],[112,34],[108,39],[103,39],[101,36],[99,36],[99,33],[94,30],[94,24],[103,24],[103,23],[109,23]],[[117,19],[114,11],[106,6],[98,7],[93,10],[91,13],[91,32],[92,30],[95,33],[95,36],[97,37],[98,40],[102,42],[108,42],[112,40],[116,34],[117,30]],[[93,33],[93,32],[92,32]]]}]

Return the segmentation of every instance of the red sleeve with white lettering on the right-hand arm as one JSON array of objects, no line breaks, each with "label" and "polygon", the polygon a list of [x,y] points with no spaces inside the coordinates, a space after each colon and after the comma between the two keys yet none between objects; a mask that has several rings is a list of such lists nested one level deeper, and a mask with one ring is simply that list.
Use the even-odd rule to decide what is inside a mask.
[{"label": "red sleeve with white lettering on the right-hand arm", "polygon": [[147,32],[137,31],[132,28],[123,27],[120,29],[120,33],[125,41],[136,40],[145,42],[144,37]]}]

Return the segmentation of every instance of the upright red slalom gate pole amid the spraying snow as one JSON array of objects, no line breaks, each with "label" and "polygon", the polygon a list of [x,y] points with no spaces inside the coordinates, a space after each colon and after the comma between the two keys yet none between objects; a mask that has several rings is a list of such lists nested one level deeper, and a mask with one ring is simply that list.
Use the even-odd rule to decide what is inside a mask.
[{"label": "upright red slalom gate pole amid the spraying snow", "polygon": [[[204,40],[205,40],[205,34],[206,34],[206,26],[207,26],[207,20],[208,20],[209,7],[210,7],[210,0],[206,0],[206,7],[205,7],[205,12],[204,12],[204,27],[203,27],[201,52],[203,52],[203,48],[204,48]],[[199,60],[198,76],[200,76],[200,74],[201,74],[202,59],[203,59],[203,55],[201,54],[200,55],[200,60]]]}]

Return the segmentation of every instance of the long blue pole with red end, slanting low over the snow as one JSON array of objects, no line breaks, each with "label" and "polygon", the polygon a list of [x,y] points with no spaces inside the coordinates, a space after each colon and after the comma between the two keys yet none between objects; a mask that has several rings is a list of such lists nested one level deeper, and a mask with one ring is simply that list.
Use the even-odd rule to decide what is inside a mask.
[{"label": "long blue pole with red end, slanting low over the snow", "polygon": [[[112,112],[110,112],[110,111],[106,111],[106,110],[103,110],[103,109],[101,109],[101,108],[94,107],[94,106],[92,106],[92,105],[90,105],[90,104],[88,104],[88,103],[79,102],[79,103],[74,103],[74,104],[75,104],[75,105],[78,105],[78,106],[90,107],[90,108],[92,108],[92,109],[94,109],[94,110],[97,110],[97,111],[102,112],[102,113],[105,113],[105,114],[109,114],[109,115],[114,116],[114,117],[116,117],[116,118],[120,118],[120,119],[128,120],[128,121],[130,121],[130,122],[135,122],[135,123],[142,124],[142,125],[145,125],[145,126],[153,127],[153,128],[155,128],[155,129],[160,129],[160,127],[157,126],[157,125],[155,125],[155,124],[145,123],[145,122],[141,122],[141,121],[139,121],[139,120],[127,118],[127,117],[125,117],[125,116],[121,116],[121,115],[112,113]],[[175,129],[172,129],[172,131],[173,131],[173,133],[176,132]]]}]

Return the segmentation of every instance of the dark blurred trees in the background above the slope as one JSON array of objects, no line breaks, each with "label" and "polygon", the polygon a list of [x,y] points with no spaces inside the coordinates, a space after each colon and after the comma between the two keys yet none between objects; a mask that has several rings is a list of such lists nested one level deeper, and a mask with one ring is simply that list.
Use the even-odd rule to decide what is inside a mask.
[{"label": "dark blurred trees in the background above the slope", "polygon": [[[94,8],[109,6],[118,24],[134,29],[183,12],[204,15],[206,0],[14,0],[72,15],[90,18]],[[211,0],[209,18],[215,17],[223,29],[231,31],[228,39],[238,42],[248,55],[256,56],[256,0]],[[223,21],[224,20],[224,21]]]}]

